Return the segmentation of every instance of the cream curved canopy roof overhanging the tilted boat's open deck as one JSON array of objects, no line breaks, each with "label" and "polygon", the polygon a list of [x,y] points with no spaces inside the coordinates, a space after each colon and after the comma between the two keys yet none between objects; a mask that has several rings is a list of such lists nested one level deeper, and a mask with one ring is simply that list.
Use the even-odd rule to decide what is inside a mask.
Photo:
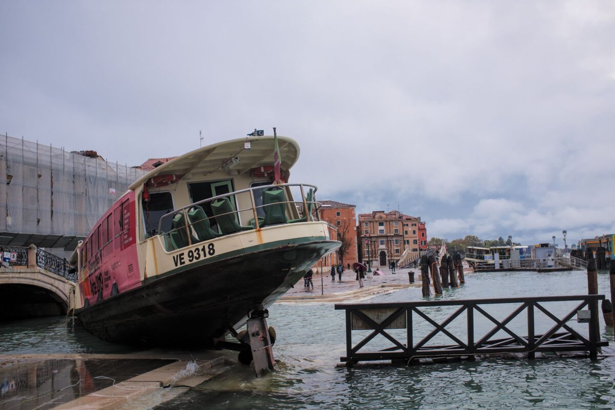
[{"label": "cream curved canopy roof overhanging the tilted boat's open deck", "polygon": [[[250,148],[245,148],[245,143]],[[290,170],[299,158],[299,144],[287,136],[278,136],[277,144],[280,149],[280,168]],[[157,168],[141,176],[130,185],[130,189],[146,183],[148,179],[157,175],[186,175],[194,173],[207,176],[221,168],[232,167],[234,175],[249,172],[252,168],[273,165],[274,136],[248,136],[237,140],[223,141],[221,143],[205,146],[194,151],[173,158]]]}]

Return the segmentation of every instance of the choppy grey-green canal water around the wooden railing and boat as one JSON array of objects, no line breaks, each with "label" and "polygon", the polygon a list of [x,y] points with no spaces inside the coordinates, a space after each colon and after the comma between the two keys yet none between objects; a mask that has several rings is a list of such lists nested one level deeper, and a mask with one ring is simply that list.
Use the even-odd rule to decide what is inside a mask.
[{"label": "choppy grey-green canal water around the wooden railing and boat", "polygon": [[[445,290],[440,299],[504,298],[585,294],[585,272],[497,272],[468,275],[461,288]],[[608,274],[598,275],[600,293],[608,294]],[[369,285],[369,283],[367,284]],[[432,298],[434,299],[434,298]],[[418,301],[419,288],[408,288],[370,301]],[[486,307],[502,320],[517,306]],[[559,317],[574,302],[546,304]],[[615,408],[615,346],[613,329],[601,320],[601,338],[609,341],[598,361],[589,358],[488,358],[416,366],[336,368],[345,354],[343,310],[333,304],[275,304],[269,308],[269,324],[276,328],[274,347],[279,361],[276,372],[255,379],[245,366],[228,371],[171,401],[140,400],[141,408],[166,409],[613,409]],[[450,309],[428,312],[438,321]],[[465,317],[451,329],[464,339]],[[478,320],[476,333],[493,327]],[[523,329],[525,317],[510,324]],[[536,317],[537,333],[554,325],[546,316]],[[587,333],[587,325],[568,322]],[[431,331],[424,323],[416,333]],[[395,333],[401,332],[401,333]],[[401,337],[401,331],[391,331]],[[365,333],[355,332],[354,341]],[[496,335],[504,337],[505,335]],[[382,338],[383,339],[383,338]],[[403,339],[405,340],[405,339]],[[437,342],[434,341],[434,342]],[[442,342],[446,342],[442,340]],[[387,347],[375,341],[375,349]],[[83,329],[67,329],[62,320],[33,320],[0,325],[0,352],[71,353],[125,352],[89,337]]]}]

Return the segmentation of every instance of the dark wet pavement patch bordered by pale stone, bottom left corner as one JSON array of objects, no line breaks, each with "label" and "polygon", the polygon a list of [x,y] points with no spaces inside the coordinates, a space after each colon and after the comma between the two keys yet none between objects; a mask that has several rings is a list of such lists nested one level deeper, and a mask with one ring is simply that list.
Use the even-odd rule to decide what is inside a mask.
[{"label": "dark wet pavement patch bordered by pale stone, bottom left corner", "polygon": [[0,410],[51,409],[173,360],[43,360],[0,368]]}]

